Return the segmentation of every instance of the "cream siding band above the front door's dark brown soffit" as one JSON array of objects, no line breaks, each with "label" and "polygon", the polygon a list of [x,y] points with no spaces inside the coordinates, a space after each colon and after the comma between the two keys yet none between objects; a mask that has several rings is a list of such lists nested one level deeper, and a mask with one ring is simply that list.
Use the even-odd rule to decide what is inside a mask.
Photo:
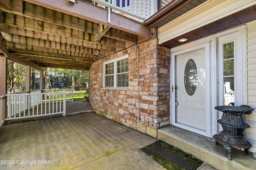
[{"label": "cream siding band above the front door's dark brown soffit", "polygon": [[158,44],[244,10],[256,0],[208,0],[158,29]]}]

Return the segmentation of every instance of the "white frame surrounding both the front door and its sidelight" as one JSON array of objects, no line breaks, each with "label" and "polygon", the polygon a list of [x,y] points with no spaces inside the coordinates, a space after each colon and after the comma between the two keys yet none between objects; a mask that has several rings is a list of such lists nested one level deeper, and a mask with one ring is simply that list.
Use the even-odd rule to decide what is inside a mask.
[{"label": "white frame surrounding both the front door and its sidelight", "polygon": [[[240,93],[241,98],[239,98],[240,101],[237,104],[241,104],[241,105],[247,104],[246,103],[247,81],[246,81],[246,59],[245,59],[245,56],[246,56],[245,25],[242,25],[233,29],[229,29],[227,31],[223,31],[215,35],[210,35],[208,37],[205,37],[184,45],[180,45],[178,47],[174,47],[171,49],[170,89],[172,86],[175,86],[175,56],[180,53],[186,53],[196,48],[198,49],[202,46],[205,47],[204,44],[209,43],[208,56],[210,57],[206,57],[206,63],[207,63],[206,67],[209,68],[208,71],[210,72],[210,79],[209,79],[210,81],[207,82],[208,88],[206,89],[206,92],[208,93],[207,95],[210,95],[210,97],[207,97],[206,99],[206,102],[209,103],[206,106],[206,109],[207,107],[210,108],[208,110],[210,111],[211,116],[210,116],[210,130],[207,129],[207,134],[205,136],[212,137],[214,134],[217,134],[219,131],[217,120],[220,119],[220,117],[218,116],[216,109],[214,109],[215,106],[218,106],[218,78],[217,78],[218,70],[216,68],[217,62],[218,62],[217,61],[218,38],[222,36],[230,35],[236,32],[239,32],[240,45],[242,47],[242,51],[240,51],[240,55],[242,55],[241,57],[242,60],[240,62],[242,62],[242,66],[243,66],[242,73],[241,73],[243,75],[243,79],[241,81],[244,83],[243,90]],[[173,125],[176,125],[175,124],[175,92],[174,93],[171,92],[170,123]]]}]

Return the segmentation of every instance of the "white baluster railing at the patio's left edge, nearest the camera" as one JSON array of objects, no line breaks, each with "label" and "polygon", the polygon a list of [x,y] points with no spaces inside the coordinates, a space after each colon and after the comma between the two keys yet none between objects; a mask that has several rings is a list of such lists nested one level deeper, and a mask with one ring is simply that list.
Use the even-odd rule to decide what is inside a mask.
[{"label": "white baluster railing at the patio's left edge, nearest the camera", "polygon": [[[6,120],[38,117],[45,115],[66,115],[65,90],[43,90],[44,93],[16,93],[6,94],[7,117]],[[72,89],[71,89],[72,91]],[[40,92],[40,91],[39,91]],[[69,95],[69,94],[68,94]],[[73,99],[73,97],[71,97]],[[68,99],[72,101],[71,99]]]}]

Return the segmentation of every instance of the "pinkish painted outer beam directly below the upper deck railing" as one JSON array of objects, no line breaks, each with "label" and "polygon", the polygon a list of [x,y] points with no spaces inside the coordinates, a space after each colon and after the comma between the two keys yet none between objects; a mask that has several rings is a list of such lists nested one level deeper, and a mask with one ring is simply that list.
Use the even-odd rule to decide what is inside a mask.
[{"label": "pinkish painted outer beam directly below the upper deck railing", "polygon": [[[144,26],[142,23],[135,22],[112,12],[110,15],[111,21],[108,23],[108,10],[95,6],[91,3],[80,2],[71,4],[63,0],[24,0],[32,4],[44,6],[52,10],[63,12],[84,20],[101,23],[109,27],[127,31],[136,35],[150,38],[150,27]],[[122,22],[120,22],[122,21]]]}]

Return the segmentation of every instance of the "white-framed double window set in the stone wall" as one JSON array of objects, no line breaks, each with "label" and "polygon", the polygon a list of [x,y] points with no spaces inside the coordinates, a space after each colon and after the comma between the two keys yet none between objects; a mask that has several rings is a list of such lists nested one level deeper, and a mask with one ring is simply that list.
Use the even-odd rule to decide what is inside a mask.
[{"label": "white-framed double window set in the stone wall", "polygon": [[128,88],[128,56],[104,63],[104,87]]}]

